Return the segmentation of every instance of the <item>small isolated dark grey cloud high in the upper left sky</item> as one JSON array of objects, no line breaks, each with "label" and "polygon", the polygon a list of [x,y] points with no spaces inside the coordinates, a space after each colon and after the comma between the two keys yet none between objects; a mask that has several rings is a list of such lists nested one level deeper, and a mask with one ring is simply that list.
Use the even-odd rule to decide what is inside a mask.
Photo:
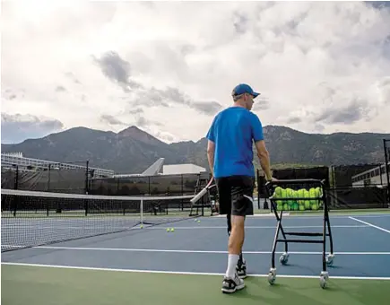
[{"label": "small isolated dark grey cloud high in the upper left sky", "polygon": [[130,79],[131,65],[125,59],[120,57],[117,52],[109,51],[99,59],[95,58],[100,66],[101,72],[111,81],[117,83],[125,92],[130,89],[138,89],[143,86],[140,83]]}]

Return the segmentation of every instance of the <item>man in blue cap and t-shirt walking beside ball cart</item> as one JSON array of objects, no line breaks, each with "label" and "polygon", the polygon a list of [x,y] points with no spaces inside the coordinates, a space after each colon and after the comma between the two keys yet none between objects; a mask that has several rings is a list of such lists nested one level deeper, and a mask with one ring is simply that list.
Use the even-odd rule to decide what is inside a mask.
[{"label": "man in blue cap and t-shirt walking beside ball cart", "polygon": [[238,84],[232,92],[234,105],[222,110],[213,119],[207,134],[207,156],[219,193],[220,214],[228,217],[230,235],[222,292],[236,292],[245,287],[243,278],[247,275],[247,266],[242,257],[242,246],[245,218],[254,213],[253,143],[256,144],[266,179],[273,179],[263,126],[256,114],[250,111],[258,95],[249,85]]}]

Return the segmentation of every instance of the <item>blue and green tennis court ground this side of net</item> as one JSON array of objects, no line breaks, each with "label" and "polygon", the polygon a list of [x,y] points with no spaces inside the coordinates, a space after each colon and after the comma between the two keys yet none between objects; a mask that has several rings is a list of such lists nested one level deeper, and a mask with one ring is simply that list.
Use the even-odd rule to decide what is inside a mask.
[{"label": "blue and green tennis court ground this side of net", "polygon": [[[42,230],[39,220],[29,223]],[[58,227],[53,223],[52,231],[74,226],[73,220],[62,219]],[[322,225],[320,214],[283,219],[285,229],[321,231]],[[247,219],[247,288],[233,295],[221,293],[227,263],[226,218],[204,216],[4,252],[2,301],[11,305],[387,303],[390,213],[331,213],[331,225],[335,258],[334,266],[328,267],[325,290],[319,285],[319,244],[289,244],[288,265],[278,262],[276,282],[268,283],[276,220],[273,214],[257,214]],[[175,231],[167,231],[172,227]]]}]

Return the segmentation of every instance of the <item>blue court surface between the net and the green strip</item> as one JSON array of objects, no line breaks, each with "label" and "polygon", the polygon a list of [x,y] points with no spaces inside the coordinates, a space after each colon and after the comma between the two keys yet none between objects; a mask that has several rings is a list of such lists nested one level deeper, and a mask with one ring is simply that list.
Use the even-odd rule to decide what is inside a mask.
[{"label": "blue court surface between the net and the green strip", "polygon": [[[71,240],[2,253],[3,265],[71,266],[170,274],[224,274],[227,266],[227,224],[222,216],[186,219],[143,229]],[[334,266],[330,278],[390,280],[390,214],[330,215]],[[286,231],[321,232],[322,216],[283,216]],[[167,231],[167,228],[175,231]],[[55,228],[53,229],[55,230]],[[248,274],[263,276],[271,267],[276,231],[273,214],[247,218],[244,256]],[[311,238],[313,239],[313,238]],[[329,250],[329,243],[326,244]],[[289,263],[278,244],[278,276],[318,277],[322,244],[289,244]]]}]

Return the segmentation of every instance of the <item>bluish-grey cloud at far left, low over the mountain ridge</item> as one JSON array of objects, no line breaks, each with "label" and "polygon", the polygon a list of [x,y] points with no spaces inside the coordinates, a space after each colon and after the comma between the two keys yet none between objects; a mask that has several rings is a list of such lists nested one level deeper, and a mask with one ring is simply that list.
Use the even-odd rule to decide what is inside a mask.
[{"label": "bluish-grey cloud at far left, low over the mountain ridge", "polygon": [[55,118],[2,113],[1,136],[3,144],[16,144],[25,139],[39,138],[60,131],[64,124]]}]

